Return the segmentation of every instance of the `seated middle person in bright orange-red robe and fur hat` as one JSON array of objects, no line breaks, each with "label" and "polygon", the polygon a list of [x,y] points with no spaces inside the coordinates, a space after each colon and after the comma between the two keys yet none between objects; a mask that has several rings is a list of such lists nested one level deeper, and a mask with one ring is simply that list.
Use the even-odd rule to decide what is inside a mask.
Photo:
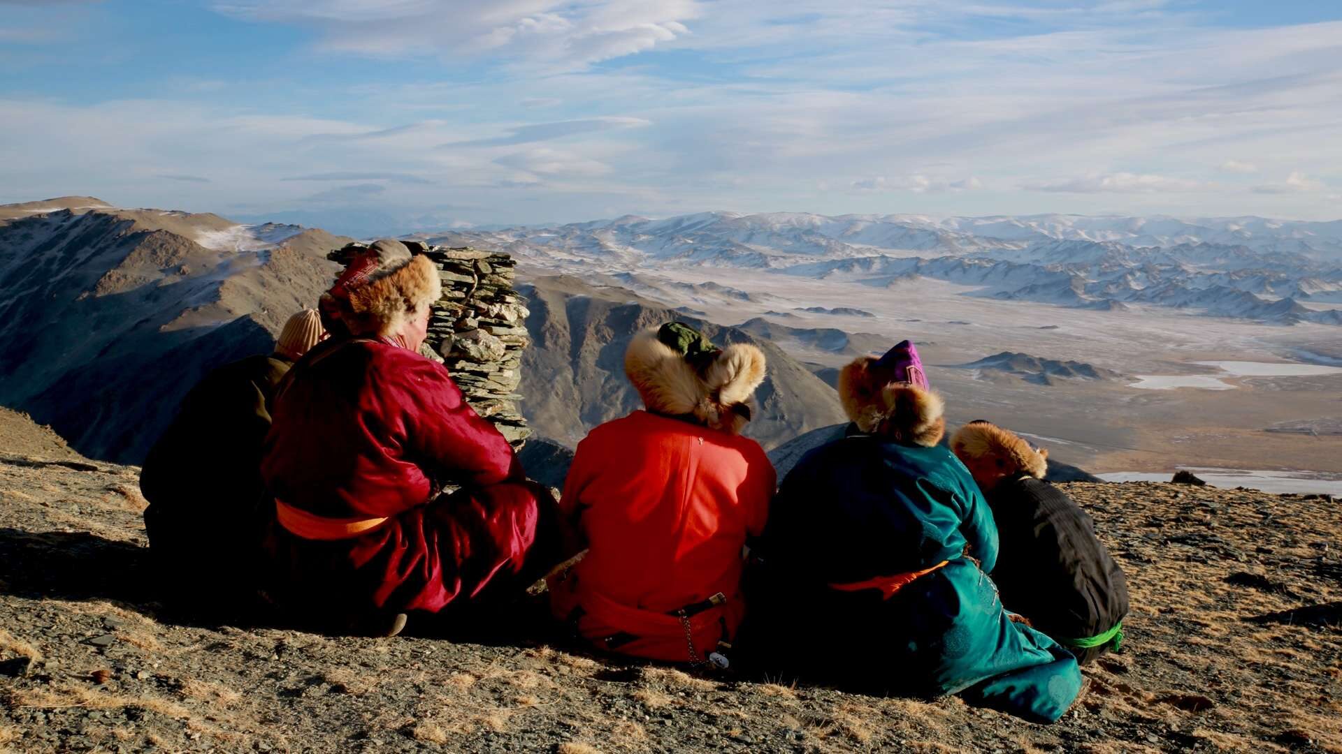
[{"label": "seated middle person in bright orange-red robe and fur hat", "polygon": [[764,353],[670,322],[635,335],[624,372],[646,411],[578,443],[560,507],[588,554],[552,584],[552,609],[600,649],[725,665],[719,645],[745,617],[742,547],[776,487],[739,436]]}]

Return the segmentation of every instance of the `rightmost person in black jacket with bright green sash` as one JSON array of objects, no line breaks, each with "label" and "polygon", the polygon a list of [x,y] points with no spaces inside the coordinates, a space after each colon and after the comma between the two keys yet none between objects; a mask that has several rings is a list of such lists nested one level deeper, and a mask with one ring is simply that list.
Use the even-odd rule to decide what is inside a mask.
[{"label": "rightmost person in black jacket with bright green sash", "polygon": [[1095,523],[1044,482],[1048,451],[973,421],[950,447],[988,496],[1001,542],[993,581],[1002,602],[1090,663],[1123,640],[1127,582],[1095,535]]}]

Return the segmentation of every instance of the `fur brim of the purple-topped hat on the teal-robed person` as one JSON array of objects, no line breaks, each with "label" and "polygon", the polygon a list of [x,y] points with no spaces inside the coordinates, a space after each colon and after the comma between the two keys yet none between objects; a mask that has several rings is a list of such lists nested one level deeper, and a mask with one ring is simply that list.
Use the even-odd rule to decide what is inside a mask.
[{"label": "fur brim of the purple-topped hat on the teal-robed person", "polygon": [[863,356],[839,373],[844,413],[870,435],[933,447],[946,435],[945,402],[933,390],[895,380],[892,369]]}]

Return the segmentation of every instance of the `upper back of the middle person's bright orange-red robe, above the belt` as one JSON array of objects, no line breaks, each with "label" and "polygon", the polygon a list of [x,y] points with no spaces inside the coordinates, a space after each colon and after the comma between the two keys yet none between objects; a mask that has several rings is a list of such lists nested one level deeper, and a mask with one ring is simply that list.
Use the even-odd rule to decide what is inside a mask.
[{"label": "upper back of the middle person's bright orange-red robe, above the belt", "polygon": [[676,419],[636,411],[597,427],[566,484],[589,545],[578,578],[656,612],[734,596],[741,546],[768,514],[769,471],[754,440]]}]

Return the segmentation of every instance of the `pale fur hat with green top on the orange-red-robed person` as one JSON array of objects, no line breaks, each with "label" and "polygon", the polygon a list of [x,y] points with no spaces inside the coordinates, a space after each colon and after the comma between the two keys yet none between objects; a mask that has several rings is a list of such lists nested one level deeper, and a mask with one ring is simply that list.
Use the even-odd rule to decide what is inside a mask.
[{"label": "pale fur hat with green top on the orange-red-robed person", "polygon": [[690,415],[713,429],[739,433],[750,421],[750,396],[764,382],[765,358],[753,345],[717,349],[687,325],[668,322],[633,335],[624,373],[648,411]]}]

